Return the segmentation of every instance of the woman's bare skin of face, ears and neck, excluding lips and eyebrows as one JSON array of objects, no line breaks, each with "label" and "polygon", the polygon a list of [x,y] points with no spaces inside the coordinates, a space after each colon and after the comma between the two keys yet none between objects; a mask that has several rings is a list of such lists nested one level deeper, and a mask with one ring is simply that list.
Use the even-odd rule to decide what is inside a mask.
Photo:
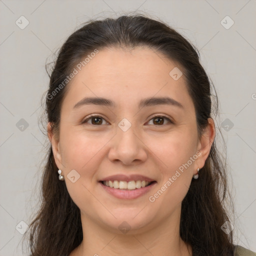
[{"label": "woman's bare skin of face, ears and neck, excluding lips and eyebrows", "polygon": [[[48,123],[48,137],[68,192],[81,210],[84,239],[70,256],[192,254],[191,246],[179,236],[181,201],[193,174],[204,165],[215,130],[209,118],[198,136],[184,75],[178,80],[169,75],[174,67],[182,70],[147,47],[105,48],[68,84],[59,133],[53,134]],[[105,97],[116,106],[73,108],[85,96]],[[169,96],[183,108],[166,104],[138,108],[140,99],[152,96]],[[82,123],[90,114],[100,115],[102,124],[92,124],[91,119]],[[158,124],[152,119],[155,115],[165,115],[173,123],[165,119]],[[125,132],[118,127],[123,118],[131,123]],[[148,197],[198,151],[200,156],[150,202]],[[80,175],[74,183],[67,178],[72,169]],[[98,182],[119,173],[145,175],[157,183],[136,199],[119,199]],[[118,228],[123,221],[131,227],[125,234]]]}]

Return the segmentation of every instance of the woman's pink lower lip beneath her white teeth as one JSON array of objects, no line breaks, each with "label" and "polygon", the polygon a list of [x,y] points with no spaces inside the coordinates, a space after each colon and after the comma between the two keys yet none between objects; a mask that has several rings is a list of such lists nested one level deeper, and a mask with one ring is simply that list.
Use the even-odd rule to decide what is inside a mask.
[{"label": "woman's pink lower lip beneath her white teeth", "polygon": [[128,190],[128,189],[118,189],[118,188],[113,188],[109,186],[103,185],[101,182],[99,184],[111,195],[120,198],[120,199],[135,199],[138,198],[139,196],[142,196],[146,192],[148,192],[155,184],[156,182],[153,182],[152,184],[148,186],[144,186],[141,188],[136,188],[133,190]]}]

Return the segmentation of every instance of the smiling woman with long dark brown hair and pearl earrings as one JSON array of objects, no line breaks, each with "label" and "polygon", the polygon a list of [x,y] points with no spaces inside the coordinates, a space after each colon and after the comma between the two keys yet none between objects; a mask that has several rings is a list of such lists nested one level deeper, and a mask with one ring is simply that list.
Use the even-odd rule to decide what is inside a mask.
[{"label": "smiling woman with long dark brown hair and pearl earrings", "polygon": [[121,16],[71,34],[46,95],[31,255],[255,255],[232,243],[212,88],[162,22]]}]

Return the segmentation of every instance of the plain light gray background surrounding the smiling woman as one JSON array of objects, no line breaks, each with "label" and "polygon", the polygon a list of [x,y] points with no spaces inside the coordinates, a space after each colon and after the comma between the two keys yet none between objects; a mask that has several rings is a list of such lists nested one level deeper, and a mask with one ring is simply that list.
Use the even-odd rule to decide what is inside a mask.
[{"label": "plain light gray background surrounding the smiling woman", "polygon": [[[199,49],[220,100],[235,243],[256,251],[255,0],[0,0],[0,255],[22,255],[20,232],[38,207],[48,143],[37,123],[46,58],[81,22],[135,10],[159,17]],[[29,22],[23,29],[21,15]]]}]

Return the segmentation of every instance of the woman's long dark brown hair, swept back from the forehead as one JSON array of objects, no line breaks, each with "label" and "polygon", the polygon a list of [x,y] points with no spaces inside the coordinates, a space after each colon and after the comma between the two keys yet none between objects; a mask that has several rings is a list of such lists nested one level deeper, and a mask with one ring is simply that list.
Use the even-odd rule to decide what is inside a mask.
[{"label": "woman's long dark brown hair, swept back from the forehead", "polygon": [[[187,39],[165,23],[141,14],[123,15],[118,18],[90,20],[73,32],[60,48],[51,70],[45,97],[47,121],[52,123],[57,135],[60,108],[67,85],[66,76],[74,66],[95,49],[108,46],[136,47],[144,45],[182,67],[187,90],[192,98],[200,135],[212,108],[214,86],[199,62],[199,53]],[[59,88],[57,93],[53,93]],[[229,198],[226,170],[215,141],[198,179],[193,179],[181,205],[180,236],[204,251],[204,255],[227,255],[232,251],[232,232],[226,234],[221,225],[229,220],[224,201]],[[41,206],[29,226],[31,256],[69,255],[82,237],[80,210],[70,198],[65,182],[58,180],[57,166],[51,146],[47,154],[41,180]],[[232,205],[232,204],[231,204]]]}]

